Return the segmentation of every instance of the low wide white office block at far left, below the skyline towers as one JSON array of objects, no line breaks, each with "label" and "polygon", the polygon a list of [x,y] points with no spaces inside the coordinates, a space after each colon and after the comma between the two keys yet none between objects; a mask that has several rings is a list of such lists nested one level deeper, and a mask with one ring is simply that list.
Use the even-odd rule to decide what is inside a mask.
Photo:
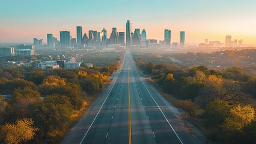
[{"label": "low wide white office block at far left, below the skyline towers", "polygon": [[25,56],[31,56],[35,55],[35,46],[26,46],[25,44],[20,44],[19,46],[15,46],[14,49],[15,55],[25,55]]}]

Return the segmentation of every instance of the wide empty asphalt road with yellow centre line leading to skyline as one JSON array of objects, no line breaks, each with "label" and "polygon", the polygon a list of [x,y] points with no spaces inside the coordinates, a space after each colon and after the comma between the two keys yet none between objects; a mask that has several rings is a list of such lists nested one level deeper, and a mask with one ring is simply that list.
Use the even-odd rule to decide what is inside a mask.
[{"label": "wide empty asphalt road with yellow centre line leading to skyline", "polygon": [[139,76],[129,50],[112,77],[62,143],[201,143]]}]

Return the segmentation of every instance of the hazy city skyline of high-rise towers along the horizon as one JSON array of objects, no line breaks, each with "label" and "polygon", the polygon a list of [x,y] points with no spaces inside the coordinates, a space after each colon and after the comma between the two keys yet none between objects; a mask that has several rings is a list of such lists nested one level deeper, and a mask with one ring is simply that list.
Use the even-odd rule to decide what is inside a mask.
[{"label": "hazy city skyline of high-rise towers along the horizon", "polygon": [[[132,31],[132,23],[130,20],[126,22],[126,32],[118,32],[117,28],[112,28],[110,37],[107,37],[106,28],[101,31],[89,30],[83,33],[82,26],[76,27],[76,38],[72,38],[70,31],[60,31],[59,40],[53,34],[47,34],[47,48],[48,49],[125,49],[130,48],[147,48],[147,49],[183,49],[188,47],[185,43],[185,31],[180,31],[180,41],[171,41],[171,29],[164,29],[163,40],[147,39],[147,32],[145,29],[136,28]],[[43,47],[43,39],[34,38],[34,44],[26,46],[20,44],[11,47],[1,47],[0,56],[7,55],[35,55],[35,48]],[[198,44],[200,48],[213,47],[242,47],[243,40],[232,40],[231,35],[227,35],[225,43],[221,41],[205,40],[205,43]]]}]

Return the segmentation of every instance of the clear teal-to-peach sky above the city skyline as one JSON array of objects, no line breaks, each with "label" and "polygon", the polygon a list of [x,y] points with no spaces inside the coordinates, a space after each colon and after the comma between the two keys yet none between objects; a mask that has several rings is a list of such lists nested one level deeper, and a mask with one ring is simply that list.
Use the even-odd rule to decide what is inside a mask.
[{"label": "clear teal-to-peach sky above the city skyline", "polygon": [[112,27],[125,31],[131,20],[132,31],[145,29],[147,38],[163,39],[164,29],[171,29],[172,42],[186,31],[186,43],[225,41],[225,35],[256,44],[255,0],[0,0],[0,43],[30,42],[76,26],[83,32]]}]

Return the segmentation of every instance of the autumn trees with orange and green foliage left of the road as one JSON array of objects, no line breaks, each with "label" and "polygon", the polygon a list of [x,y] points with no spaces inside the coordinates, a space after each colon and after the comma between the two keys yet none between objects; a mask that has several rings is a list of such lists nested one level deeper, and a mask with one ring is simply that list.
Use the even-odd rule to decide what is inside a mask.
[{"label": "autumn trees with orange and green foliage left of the road", "polygon": [[[0,69],[0,143],[59,143],[117,66]],[[87,97],[85,97],[87,96]]]}]

